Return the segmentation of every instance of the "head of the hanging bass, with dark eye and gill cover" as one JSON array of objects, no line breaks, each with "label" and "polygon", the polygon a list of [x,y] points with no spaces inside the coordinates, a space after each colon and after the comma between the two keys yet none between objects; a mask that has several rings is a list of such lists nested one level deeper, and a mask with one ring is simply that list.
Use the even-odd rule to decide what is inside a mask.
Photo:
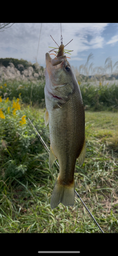
[{"label": "head of the hanging bass, with dark eye and gill cover", "polygon": [[59,56],[52,59],[49,53],[46,53],[45,59],[45,97],[66,102],[75,90],[75,77],[72,68],[66,56]]}]

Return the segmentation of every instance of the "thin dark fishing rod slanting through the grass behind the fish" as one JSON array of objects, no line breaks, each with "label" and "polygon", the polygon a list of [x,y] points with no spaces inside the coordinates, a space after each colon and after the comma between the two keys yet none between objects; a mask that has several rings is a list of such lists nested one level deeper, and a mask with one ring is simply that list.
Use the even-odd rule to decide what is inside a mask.
[{"label": "thin dark fishing rod slanting through the grass behind the fish", "polygon": [[[31,123],[32,127],[34,128],[34,130],[35,130],[35,132],[36,132],[38,138],[39,138],[40,141],[42,142],[42,144],[43,144],[45,150],[46,150],[48,153],[50,153],[50,150],[49,150],[48,146],[45,144],[44,140],[41,138],[40,134],[39,134],[38,131],[36,130],[34,124],[32,123],[32,121],[30,120],[29,117],[28,117],[28,120],[29,120],[29,122]],[[55,160],[54,163],[56,164],[57,168],[59,169],[59,164],[58,164],[58,162]],[[87,206],[85,205],[85,203],[83,202],[83,200],[81,199],[81,197],[79,196],[79,194],[77,193],[76,190],[75,190],[75,193],[76,193],[77,197],[81,200],[82,204],[85,206],[85,208],[86,208],[86,210],[88,211],[89,215],[90,215],[90,216],[92,217],[92,219],[96,222],[96,224],[97,224],[97,226],[99,227],[99,229],[101,230],[101,232],[104,233],[104,231],[102,230],[102,228],[100,227],[100,225],[98,224],[98,222],[95,220],[95,218],[92,216],[91,212],[89,211],[89,209],[87,208]]]}]

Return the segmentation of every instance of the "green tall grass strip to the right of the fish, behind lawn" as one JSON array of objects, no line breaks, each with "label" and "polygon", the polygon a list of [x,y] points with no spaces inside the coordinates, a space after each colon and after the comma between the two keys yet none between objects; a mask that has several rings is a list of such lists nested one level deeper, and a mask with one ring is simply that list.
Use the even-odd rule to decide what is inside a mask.
[{"label": "green tall grass strip to the right of the fish, behind lawn", "polygon": [[103,85],[100,82],[99,86],[80,83],[80,90],[86,109],[93,111],[118,110],[118,86],[115,82],[111,85]]}]

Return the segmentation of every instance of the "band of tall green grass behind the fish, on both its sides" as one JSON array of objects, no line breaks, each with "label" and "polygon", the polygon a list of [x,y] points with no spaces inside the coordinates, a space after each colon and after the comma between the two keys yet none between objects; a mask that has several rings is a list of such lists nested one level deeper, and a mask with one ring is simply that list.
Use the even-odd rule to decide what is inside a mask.
[{"label": "band of tall green grass behind the fish, on both its sides", "polygon": [[[91,84],[90,82],[84,83],[79,82],[82,99],[84,102],[85,109],[92,111],[117,111],[118,109],[118,86],[117,83],[111,85],[99,83]],[[6,86],[4,86],[6,84]],[[21,94],[23,103],[30,103],[31,91],[32,91],[32,105],[45,106],[44,103],[44,86],[45,80],[42,81],[7,81],[0,84],[0,96],[3,98],[9,97],[10,100],[13,97],[19,97]],[[33,87],[33,90],[32,90]]]}]

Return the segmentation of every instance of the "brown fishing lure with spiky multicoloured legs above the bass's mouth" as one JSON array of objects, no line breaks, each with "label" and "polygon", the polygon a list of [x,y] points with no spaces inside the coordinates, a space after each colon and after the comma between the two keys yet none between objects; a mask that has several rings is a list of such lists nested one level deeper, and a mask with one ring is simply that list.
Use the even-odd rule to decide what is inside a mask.
[{"label": "brown fishing lure with spiky multicoloured legs above the bass's mouth", "polygon": [[[50,35],[51,36],[51,35]],[[52,37],[52,36],[51,36]],[[52,37],[52,39],[53,39],[53,37]],[[72,40],[70,40],[65,46],[63,45],[63,42],[62,42],[62,35],[61,35],[61,45],[60,46],[58,46],[58,44],[57,44],[57,42],[54,40],[54,42],[55,42],[55,44],[58,46],[58,48],[55,48],[55,47],[50,47],[49,46],[49,48],[53,48],[53,50],[51,50],[51,51],[49,51],[49,53],[50,52],[52,52],[52,51],[54,51],[56,54],[54,54],[54,53],[51,53],[51,54],[54,54],[57,58],[58,57],[60,57],[60,56],[64,56],[64,53],[66,54],[66,53],[68,53],[68,54],[70,54],[71,55],[71,53],[69,53],[69,52],[73,52],[73,50],[72,51],[70,51],[70,50],[64,50],[64,47],[65,46],[67,46]],[[55,51],[56,49],[59,49],[58,51]],[[66,51],[68,51],[68,52],[66,52]],[[50,55],[51,55],[50,54]],[[70,57],[66,57],[66,58],[70,58]]]}]

